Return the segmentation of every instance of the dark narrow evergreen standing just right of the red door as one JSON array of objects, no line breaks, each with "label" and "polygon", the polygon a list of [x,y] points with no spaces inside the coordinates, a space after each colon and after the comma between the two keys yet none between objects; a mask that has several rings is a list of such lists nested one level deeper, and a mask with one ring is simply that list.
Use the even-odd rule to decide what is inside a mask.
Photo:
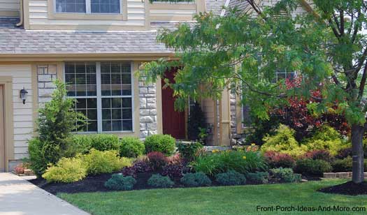
[{"label": "dark narrow evergreen standing just right of the red door", "polygon": [[206,119],[199,103],[190,106],[189,119],[187,120],[187,136],[189,140],[201,140],[200,130],[206,130]]}]

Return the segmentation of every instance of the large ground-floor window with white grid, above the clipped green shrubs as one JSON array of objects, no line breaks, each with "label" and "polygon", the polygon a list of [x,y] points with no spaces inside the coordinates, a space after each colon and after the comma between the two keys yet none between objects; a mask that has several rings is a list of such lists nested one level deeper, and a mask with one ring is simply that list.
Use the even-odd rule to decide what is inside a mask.
[{"label": "large ground-floor window with white grid, above the clipped green shrubs", "polygon": [[83,132],[133,131],[131,64],[68,62],[65,82],[75,111],[87,116]]}]

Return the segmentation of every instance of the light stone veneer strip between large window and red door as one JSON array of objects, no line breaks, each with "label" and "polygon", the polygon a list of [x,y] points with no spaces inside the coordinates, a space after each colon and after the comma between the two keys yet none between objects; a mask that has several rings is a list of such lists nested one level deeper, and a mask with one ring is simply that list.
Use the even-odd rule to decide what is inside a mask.
[{"label": "light stone veneer strip between large window and red door", "polygon": [[139,79],[140,138],[157,134],[157,87]]}]

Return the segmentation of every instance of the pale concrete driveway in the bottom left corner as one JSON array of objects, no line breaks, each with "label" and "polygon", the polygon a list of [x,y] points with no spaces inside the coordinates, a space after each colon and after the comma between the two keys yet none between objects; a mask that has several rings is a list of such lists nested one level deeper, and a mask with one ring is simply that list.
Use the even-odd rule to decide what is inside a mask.
[{"label": "pale concrete driveway in the bottom left corner", "polygon": [[0,173],[0,215],[88,215],[29,181]]}]

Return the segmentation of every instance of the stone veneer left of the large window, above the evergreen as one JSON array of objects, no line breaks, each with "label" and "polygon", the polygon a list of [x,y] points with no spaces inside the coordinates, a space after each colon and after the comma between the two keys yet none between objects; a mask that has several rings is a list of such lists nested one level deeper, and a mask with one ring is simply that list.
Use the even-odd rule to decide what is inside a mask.
[{"label": "stone veneer left of the large window, above the evergreen", "polygon": [[37,81],[38,81],[38,104],[42,105],[50,101],[52,91],[55,89],[53,81],[57,79],[56,65],[38,65]]}]

